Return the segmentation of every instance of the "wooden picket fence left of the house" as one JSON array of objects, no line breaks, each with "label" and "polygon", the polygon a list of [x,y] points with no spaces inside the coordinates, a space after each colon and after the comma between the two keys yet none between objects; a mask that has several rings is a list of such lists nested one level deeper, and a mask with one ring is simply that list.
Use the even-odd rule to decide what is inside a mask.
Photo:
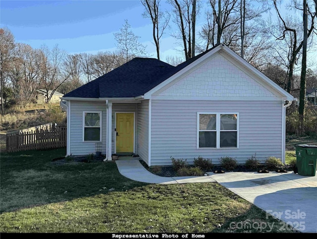
[{"label": "wooden picket fence left of the house", "polygon": [[66,147],[66,125],[47,126],[28,132],[6,135],[8,153],[23,150],[52,149]]}]

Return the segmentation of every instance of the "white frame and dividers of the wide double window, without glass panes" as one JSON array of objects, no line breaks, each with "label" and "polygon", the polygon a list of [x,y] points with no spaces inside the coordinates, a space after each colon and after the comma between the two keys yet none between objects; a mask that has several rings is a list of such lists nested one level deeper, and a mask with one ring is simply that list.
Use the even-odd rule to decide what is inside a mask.
[{"label": "white frame and dividers of the wide double window, without glass panes", "polygon": [[[216,130],[200,130],[199,129],[199,115],[216,115]],[[220,130],[220,115],[237,115],[237,129],[236,130]],[[239,148],[239,113],[232,112],[197,112],[197,149],[238,149]],[[216,132],[216,147],[199,147],[199,132],[212,131]],[[237,147],[220,147],[220,132],[237,132]]]}]

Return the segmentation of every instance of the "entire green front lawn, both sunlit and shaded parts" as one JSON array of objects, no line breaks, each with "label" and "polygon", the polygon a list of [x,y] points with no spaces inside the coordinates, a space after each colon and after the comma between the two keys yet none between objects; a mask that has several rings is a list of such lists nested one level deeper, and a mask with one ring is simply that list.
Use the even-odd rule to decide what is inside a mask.
[{"label": "entire green front lawn, both sunlit and shaded parts", "polygon": [[278,220],[218,183],[147,184],[121,176],[113,161],[52,161],[63,155],[1,154],[0,232],[281,232]]}]

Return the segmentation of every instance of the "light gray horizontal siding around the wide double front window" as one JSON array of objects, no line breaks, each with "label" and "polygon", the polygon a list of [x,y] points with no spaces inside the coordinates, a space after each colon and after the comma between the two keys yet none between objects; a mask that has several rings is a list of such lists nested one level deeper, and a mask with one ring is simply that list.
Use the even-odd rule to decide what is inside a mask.
[{"label": "light gray horizontal siding around the wide double front window", "polygon": [[[238,113],[239,148],[197,149],[197,113]],[[238,164],[252,155],[259,160],[281,158],[281,101],[177,101],[152,100],[151,165],[170,165],[171,157],[211,158],[214,164],[224,156]]]}]

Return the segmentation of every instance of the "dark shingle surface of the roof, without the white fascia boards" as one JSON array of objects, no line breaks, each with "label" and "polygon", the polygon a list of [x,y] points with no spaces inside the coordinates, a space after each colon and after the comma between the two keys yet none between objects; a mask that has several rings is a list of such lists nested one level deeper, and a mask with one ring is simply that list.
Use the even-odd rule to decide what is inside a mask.
[{"label": "dark shingle surface of the roof, without the white fascia boards", "polygon": [[65,94],[64,97],[125,98],[141,96],[210,50],[177,66],[153,58],[134,58]]}]

